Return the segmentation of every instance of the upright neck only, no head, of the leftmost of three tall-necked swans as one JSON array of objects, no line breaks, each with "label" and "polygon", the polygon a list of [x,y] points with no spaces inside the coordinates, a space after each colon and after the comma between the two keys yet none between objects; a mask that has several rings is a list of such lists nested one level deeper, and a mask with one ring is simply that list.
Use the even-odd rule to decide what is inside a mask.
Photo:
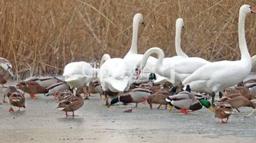
[{"label": "upright neck only, no head, of the leftmost of three tall-necked swans", "polygon": [[138,49],[137,49],[138,29],[139,29],[139,19],[135,18],[132,23],[132,45],[128,52],[129,54],[138,54]]}]

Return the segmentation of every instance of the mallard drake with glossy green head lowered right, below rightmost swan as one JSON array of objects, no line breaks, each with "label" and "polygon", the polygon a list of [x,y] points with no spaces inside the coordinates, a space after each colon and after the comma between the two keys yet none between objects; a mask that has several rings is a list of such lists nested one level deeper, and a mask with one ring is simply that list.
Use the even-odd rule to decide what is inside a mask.
[{"label": "mallard drake with glossy green head lowered right, below rightmost swan", "polygon": [[190,87],[187,85],[185,91],[181,91],[178,94],[174,96],[168,96],[166,98],[166,101],[169,103],[169,111],[171,109],[181,109],[181,113],[185,113],[185,115],[188,115],[187,109],[190,109],[192,111],[196,111],[201,109],[203,106],[209,109],[210,111],[213,111],[213,108],[211,107],[211,103],[204,98],[197,99],[192,93],[190,93]]}]

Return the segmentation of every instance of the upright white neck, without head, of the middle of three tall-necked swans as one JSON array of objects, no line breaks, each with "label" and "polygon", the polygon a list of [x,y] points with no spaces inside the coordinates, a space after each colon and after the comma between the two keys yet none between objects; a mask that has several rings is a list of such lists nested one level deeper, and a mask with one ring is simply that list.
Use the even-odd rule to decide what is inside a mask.
[{"label": "upright white neck, without head, of the middle of three tall-necked swans", "polygon": [[185,58],[188,58],[187,54],[185,54],[182,49],[181,49],[181,30],[182,30],[182,25],[181,24],[176,24],[176,32],[175,32],[175,50],[177,56],[183,56]]}]

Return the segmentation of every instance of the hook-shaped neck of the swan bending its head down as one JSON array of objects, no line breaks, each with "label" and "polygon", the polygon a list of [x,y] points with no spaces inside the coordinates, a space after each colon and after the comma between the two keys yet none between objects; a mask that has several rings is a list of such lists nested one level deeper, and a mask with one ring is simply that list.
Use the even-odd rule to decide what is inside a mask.
[{"label": "hook-shaped neck of the swan bending its head down", "polygon": [[146,65],[146,61],[153,53],[157,54],[157,62],[155,63],[155,68],[160,69],[160,67],[162,66],[162,61],[164,60],[164,51],[162,51],[162,49],[160,49],[159,47],[152,47],[145,52],[143,58],[141,59],[141,65],[139,65],[141,67],[141,70],[143,70]]}]

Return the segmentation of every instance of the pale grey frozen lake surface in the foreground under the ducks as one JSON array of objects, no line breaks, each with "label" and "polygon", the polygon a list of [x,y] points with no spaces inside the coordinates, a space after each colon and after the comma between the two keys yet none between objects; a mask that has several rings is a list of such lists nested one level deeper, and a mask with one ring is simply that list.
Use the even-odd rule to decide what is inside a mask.
[{"label": "pale grey frozen lake surface in the foreground under the ducks", "polygon": [[[38,99],[26,95],[21,112],[8,112],[10,103],[0,105],[1,142],[256,142],[256,116],[244,118],[252,108],[239,108],[224,125],[205,108],[187,116],[147,103],[106,108],[97,94],[75,118],[66,118],[57,104],[39,94]],[[123,113],[130,108],[132,113]]]}]

